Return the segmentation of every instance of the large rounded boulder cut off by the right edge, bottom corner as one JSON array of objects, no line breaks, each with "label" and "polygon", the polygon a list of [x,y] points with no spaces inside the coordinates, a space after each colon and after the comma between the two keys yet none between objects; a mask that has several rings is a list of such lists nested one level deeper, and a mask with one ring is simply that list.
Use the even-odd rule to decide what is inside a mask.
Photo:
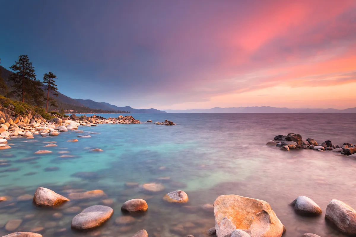
[{"label": "large rounded boulder cut off by the right edge, bottom corner", "polygon": [[342,233],[356,236],[356,211],[346,203],[331,200],[326,206],[325,219],[332,222]]}]

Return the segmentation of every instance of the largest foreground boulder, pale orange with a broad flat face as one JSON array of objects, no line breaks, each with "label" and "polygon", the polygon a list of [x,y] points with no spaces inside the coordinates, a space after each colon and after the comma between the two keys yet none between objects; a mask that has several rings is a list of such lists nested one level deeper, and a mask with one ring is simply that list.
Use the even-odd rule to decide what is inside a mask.
[{"label": "largest foreground boulder, pale orange with a broad flat face", "polygon": [[283,225],[263,200],[239,195],[222,195],[214,202],[217,237],[230,236],[240,229],[251,237],[281,237]]}]

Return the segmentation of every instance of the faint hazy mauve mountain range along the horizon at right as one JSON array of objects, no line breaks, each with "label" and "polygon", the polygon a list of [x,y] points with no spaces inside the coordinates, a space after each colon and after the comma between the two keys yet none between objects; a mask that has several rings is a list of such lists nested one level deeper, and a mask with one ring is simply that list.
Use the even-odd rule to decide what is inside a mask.
[{"label": "faint hazy mauve mountain range along the horizon at right", "polygon": [[254,106],[254,107],[230,107],[220,108],[214,107],[211,109],[166,109],[167,113],[356,113],[355,108],[348,109],[309,109],[309,108],[278,108],[271,106]]}]

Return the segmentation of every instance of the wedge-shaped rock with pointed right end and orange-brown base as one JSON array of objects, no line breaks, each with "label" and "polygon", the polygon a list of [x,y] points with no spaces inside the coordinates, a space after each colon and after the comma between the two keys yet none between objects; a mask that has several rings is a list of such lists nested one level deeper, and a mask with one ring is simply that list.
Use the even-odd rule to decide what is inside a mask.
[{"label": "wedge-shaped rock with pointed right end and orange-brown base", "polygon": [[37,206],[58,206],[67,201],[69,201],[68,198],[42,187],[38,187],[33,196],[33,203]]}]

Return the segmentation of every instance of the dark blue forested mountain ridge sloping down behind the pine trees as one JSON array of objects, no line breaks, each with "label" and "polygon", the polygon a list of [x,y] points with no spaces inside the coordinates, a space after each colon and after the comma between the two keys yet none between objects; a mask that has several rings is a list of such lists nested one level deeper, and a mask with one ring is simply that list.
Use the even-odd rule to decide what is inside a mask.
[{"label": "dark blue forested mountain ridge sloping down behind the pine trees", "polygon": [[[4,78],[6,85],[11,87],[12,84],[7,79],[14,72],[7,70],[3,66],[0,66],[0,69],[1,76]],[[45,87],[42,87],[42,89],[44,88]],[[166,113],[165,111],[160,111],[158,109],[133,109],[130,106],[117,107],[106,102],[95,102],[91,99],[73,99],[62,93],[58,93],[58,97],[50,94],[50,97],[57,101],[58,108],[50,106],[49,111],[63,108],[66,111],[71,110],[77,111],[78,113],[110,113],[115,111],[128,111],[130,113]]]}]

